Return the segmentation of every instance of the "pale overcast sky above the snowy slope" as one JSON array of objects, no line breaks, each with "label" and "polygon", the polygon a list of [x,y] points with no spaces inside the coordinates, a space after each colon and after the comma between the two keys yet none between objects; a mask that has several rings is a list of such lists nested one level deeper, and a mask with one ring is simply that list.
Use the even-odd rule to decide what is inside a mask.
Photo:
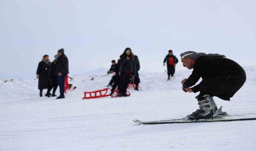
[{"label": "pale overcast sky above the snowy slope", "polygon": [[35,78],[60,48],[71,75],[109,68],[126,47],[144,71],[164,71],[170,49],[256,63],[255,0],[0,0],[0,21],[0,78]]}]

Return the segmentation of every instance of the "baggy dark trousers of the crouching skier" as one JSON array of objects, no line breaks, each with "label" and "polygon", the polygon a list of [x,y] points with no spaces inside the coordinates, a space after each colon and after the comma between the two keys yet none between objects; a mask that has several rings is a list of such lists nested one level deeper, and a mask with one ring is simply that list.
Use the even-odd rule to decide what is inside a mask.
[{"label": "baggy dark trousers of the crouching skier", "polygon": [[222,100],[230,101],[230,98],[242,88],[245,81],[245,72],[212,77],[200,83],[200,94],[198,96],[208,94],[211,97],[217,96]]}]

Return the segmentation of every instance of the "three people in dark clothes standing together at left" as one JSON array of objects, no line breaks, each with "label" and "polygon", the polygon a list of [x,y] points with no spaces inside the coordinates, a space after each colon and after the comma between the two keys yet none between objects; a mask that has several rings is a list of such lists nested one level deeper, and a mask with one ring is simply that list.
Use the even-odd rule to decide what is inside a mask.
[{"label": "three people in dark clothes standing together at left", "polygon": [[[49,55],[44,55],[42,61],[39,62],[36,78],[38,81],[38,89],[40,90],[40,97],[43,96],[43,89],[47,89],[45,96],[55,97],[58,86],[60,87],[60,96],[57,99],[65,98],[65,78],[69,73],[68,70],[68,58],[64,54],[64,49],[60,49],[57,55],[54,56],[55,60],[50,62]],[[53,93],[51,94],[51,90]]]}]

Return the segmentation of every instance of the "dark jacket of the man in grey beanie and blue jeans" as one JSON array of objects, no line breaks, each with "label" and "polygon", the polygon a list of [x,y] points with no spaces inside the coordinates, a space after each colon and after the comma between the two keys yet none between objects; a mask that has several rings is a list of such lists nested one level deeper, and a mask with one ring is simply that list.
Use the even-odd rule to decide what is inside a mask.
[{"label": "dark jacket of the man in grey beanie and blue jeans", "polygon": [[56,74],[61,73],[61,74],[68,74],[68,58],[65,54],[60,56],[57,60],[56,63]]}]

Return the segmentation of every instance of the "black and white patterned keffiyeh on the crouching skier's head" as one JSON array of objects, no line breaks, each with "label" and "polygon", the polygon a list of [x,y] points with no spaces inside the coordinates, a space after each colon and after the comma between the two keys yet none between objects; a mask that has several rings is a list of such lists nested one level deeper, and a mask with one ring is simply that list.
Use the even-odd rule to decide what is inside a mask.
[{"label": "black and white patterned keffiyeh on the crouching skier's head", "polygon": [[194,51],[185,51],[181,53],[180,55],[182,58],[191,58],[191,59],[198,59],[199,57],[226,57],[225,55],[221,55],[218,53],[212,54],[206,54],[202,52],[194,52]]}]

